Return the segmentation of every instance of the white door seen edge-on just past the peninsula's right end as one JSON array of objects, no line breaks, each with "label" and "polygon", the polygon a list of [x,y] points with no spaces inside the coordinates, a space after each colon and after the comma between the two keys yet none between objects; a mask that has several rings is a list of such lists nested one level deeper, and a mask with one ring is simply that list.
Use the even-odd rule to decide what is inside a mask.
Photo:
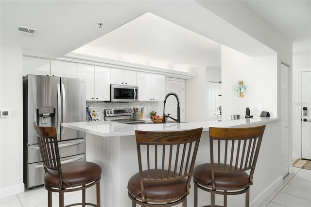
[{"label": "white door seen edge-on just past the peninsula's right end", "polygon": [[289,173],[289,67],[281,64],[282,69],[282,175]]}]

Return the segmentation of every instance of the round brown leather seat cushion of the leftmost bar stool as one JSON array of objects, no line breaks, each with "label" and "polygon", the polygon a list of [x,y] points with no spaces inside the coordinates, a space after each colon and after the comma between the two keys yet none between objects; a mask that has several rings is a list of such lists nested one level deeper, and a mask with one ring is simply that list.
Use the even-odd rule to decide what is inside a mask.
[{"label": "round brown leather seat cushion of the leftmost bar stool", "polygon": [[[75,161],[62,164],[63,180],[72,186],[80,186],[81,183],[92,182],[102,173],[98,164],[93,162]],[[57,171],[49,170],[44,174],[45,185],[53,188],[59,187],[59,177]],[[63,183],[64,188],[69,186]]]}]

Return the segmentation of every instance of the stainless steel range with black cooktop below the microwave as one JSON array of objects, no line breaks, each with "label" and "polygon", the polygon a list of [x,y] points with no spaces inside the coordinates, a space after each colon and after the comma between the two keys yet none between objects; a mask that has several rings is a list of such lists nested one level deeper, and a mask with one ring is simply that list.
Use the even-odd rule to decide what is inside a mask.
[{"label": "stainless steel range with black cooktop below the microwave", "polygon": [[138,124],[146,122],[145,120],[133,119],[133,111],[130,108],[105,109],[104,113],[105,121],[114,121],[125,124]]}]

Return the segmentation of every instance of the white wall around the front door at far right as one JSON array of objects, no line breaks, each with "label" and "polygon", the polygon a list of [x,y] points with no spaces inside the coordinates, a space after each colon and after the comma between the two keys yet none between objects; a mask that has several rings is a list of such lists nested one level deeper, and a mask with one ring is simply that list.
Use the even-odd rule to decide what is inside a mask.
[{"label": "white wall around the front door at far right", "polygon": [[311,52],[293,54],[293,158],[301,158],[301,72],[311,71]]}]

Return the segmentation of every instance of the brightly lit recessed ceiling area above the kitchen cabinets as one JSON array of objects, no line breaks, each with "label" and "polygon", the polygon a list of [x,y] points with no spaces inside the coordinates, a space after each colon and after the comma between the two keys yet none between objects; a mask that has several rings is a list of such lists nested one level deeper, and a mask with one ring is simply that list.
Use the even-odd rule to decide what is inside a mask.
[{"label": "brightly lit recessed ceiling area above the kitchen cabinets", "polygon": [[221,44],[151,13],[73,52],[182,71],[221,66]]}]

